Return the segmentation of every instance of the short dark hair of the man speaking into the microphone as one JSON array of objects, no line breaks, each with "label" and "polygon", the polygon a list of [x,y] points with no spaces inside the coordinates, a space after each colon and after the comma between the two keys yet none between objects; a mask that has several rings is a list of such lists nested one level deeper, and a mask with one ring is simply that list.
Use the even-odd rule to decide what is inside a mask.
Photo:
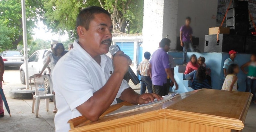
[{"label": "short dark hair of the man speaking into the microphone", "polygon": [[78,26],[83,26],[88,30],[90,22],[94,19],[94,14],[99,13],[105,13],[110,17],[109,12],[99,6],[90,6],[81,10],[76,18],[76,28]]}]

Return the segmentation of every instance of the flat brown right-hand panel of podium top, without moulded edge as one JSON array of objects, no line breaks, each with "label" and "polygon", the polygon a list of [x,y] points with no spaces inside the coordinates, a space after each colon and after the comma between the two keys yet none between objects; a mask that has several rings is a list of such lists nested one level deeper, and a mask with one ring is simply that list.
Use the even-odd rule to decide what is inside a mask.
[{"label": "flat brown right-hand panel of podium top, without moulded edge", "polygon": [[186,96],[181,94],[179,101],[166,109],[240,120],[250,93],[201,89]]}]

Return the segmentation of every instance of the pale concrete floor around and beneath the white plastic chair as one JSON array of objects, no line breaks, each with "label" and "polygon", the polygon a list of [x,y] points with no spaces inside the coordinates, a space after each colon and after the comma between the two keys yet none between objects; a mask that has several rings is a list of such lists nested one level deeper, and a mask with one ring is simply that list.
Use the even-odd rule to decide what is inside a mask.
[{"label": "pale concrete floor around and beneath the white plastic chair", "polygon": [[[11,88],[25,87],[20,84],[20,74],[16,70],[6,70],[4,73],[4,93],[7,98],[11,115],[9,117],[5,110],[5,116],[0,118],[0,132],[54,132],[54,113],[52,110],[54,104],[50,102],[49,112],[45,111],[45,101],[41,100],[39,107],[39,118],[35,117],[32,110],[32,100],[19,100],[9,97],[9,90]],[[131,84],[131,83],[130,83]],[[132,84],[131,84],[132,86]],[[140,93],[140,86],[132,86],[136,92]],[[5,108],[5,107],[4,107]],[[255,132],[256,131],[256,104],[251,104],[246,120],[243,132]]]}]

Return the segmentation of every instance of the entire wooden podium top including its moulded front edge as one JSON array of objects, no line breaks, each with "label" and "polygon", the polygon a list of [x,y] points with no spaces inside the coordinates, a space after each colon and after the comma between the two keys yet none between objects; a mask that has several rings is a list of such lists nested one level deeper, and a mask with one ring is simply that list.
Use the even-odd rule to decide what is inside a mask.
[{"label": "entire wooden podium top including its moulded front edge", "polygon": [[102,114],[98,121],[87,120],[80,116],[68,121],[71,132],[91,131],[103,127],[124,126],[148,120],[172,119],[182,120],[241,130],[251,102],[252,94],[249,92],[222,91],[216,89],[199,89],[176,95],[170,101],[154,105],[153,107],[105,116],[123,105],[132,105],[122,102],[113,106]]}]

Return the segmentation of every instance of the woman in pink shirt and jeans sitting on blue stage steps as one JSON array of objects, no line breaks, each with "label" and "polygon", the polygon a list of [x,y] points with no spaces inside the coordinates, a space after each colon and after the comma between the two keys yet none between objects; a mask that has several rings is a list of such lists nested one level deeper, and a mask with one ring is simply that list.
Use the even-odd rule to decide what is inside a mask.
[{"label": "woman in pink shirt and jeans sitting on blue stage steps", "polygon": [[191,80],[196,76],[196,71],[198,69],[199,65],[197,64],[197,58],[196,55],[193,54],[190,57],[190,61],[187,64],[186,71],[185,71],[185,79]]}]

